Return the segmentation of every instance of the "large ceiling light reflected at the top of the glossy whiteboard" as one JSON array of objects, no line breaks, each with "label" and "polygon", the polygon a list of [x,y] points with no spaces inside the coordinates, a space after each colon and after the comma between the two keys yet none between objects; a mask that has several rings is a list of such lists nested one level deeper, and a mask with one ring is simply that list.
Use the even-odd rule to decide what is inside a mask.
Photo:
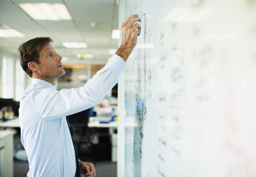
[{"label": "large ceiling light reflected at the top of the glossy whiteboard", "polygon": [[213,9],[200,7],[175,7],[164,17],[164,21],[192,23],[207,18],[213,12]]}]

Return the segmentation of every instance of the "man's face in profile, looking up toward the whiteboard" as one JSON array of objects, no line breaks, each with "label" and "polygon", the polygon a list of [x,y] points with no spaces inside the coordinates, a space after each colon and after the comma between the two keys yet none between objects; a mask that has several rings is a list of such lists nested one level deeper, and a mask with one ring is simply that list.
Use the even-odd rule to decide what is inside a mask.
[{"label": "man's face in profile, looking up toward the whiteboard", "polygon": [[61,64],[62,57],[56,53],[51,44],[47,44],[39,53],[38,74],[45,79],[58,79],[65,74]]}]

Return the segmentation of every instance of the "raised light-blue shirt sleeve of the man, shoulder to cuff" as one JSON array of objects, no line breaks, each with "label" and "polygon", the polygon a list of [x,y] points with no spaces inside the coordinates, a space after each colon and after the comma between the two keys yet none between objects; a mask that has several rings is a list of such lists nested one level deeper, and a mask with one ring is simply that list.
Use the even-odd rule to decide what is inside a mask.
[{"label": "raised light-blue shirt sleeve of the man, shoulder to cuff", "polygon": [[68,116],[100,103],[117,84],[125,69],[125,61],[114,54],[103,69],[97,71],[87,84],[77,89],[36,89],[33,101],[42,118],[53,119]]}]

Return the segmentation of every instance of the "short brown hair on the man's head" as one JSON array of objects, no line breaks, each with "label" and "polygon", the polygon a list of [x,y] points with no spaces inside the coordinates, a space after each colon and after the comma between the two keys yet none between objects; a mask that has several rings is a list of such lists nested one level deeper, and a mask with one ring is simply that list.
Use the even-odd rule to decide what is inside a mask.
[{"label": "short brown hair on the man's head", "polygon": [[28,63],[34,61],[39,64],[39,52],[50,42],[52,42],[52,39],[49,37],[38,37],[30,39],[19,46],[17,54],[21,61],[21,67],[30,77],[32,76],[32,71],[29,69]]}]

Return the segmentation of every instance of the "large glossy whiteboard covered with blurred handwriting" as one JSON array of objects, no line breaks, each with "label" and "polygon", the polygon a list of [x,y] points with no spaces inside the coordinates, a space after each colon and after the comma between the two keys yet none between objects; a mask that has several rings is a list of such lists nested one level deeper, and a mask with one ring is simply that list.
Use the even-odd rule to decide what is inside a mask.
[{"label": "large glossy whiteboard covered with blurred handwriting", "polygon": [[145,15],[120,79],[118,176],[256,176],[256,1],[119,8]]}]

